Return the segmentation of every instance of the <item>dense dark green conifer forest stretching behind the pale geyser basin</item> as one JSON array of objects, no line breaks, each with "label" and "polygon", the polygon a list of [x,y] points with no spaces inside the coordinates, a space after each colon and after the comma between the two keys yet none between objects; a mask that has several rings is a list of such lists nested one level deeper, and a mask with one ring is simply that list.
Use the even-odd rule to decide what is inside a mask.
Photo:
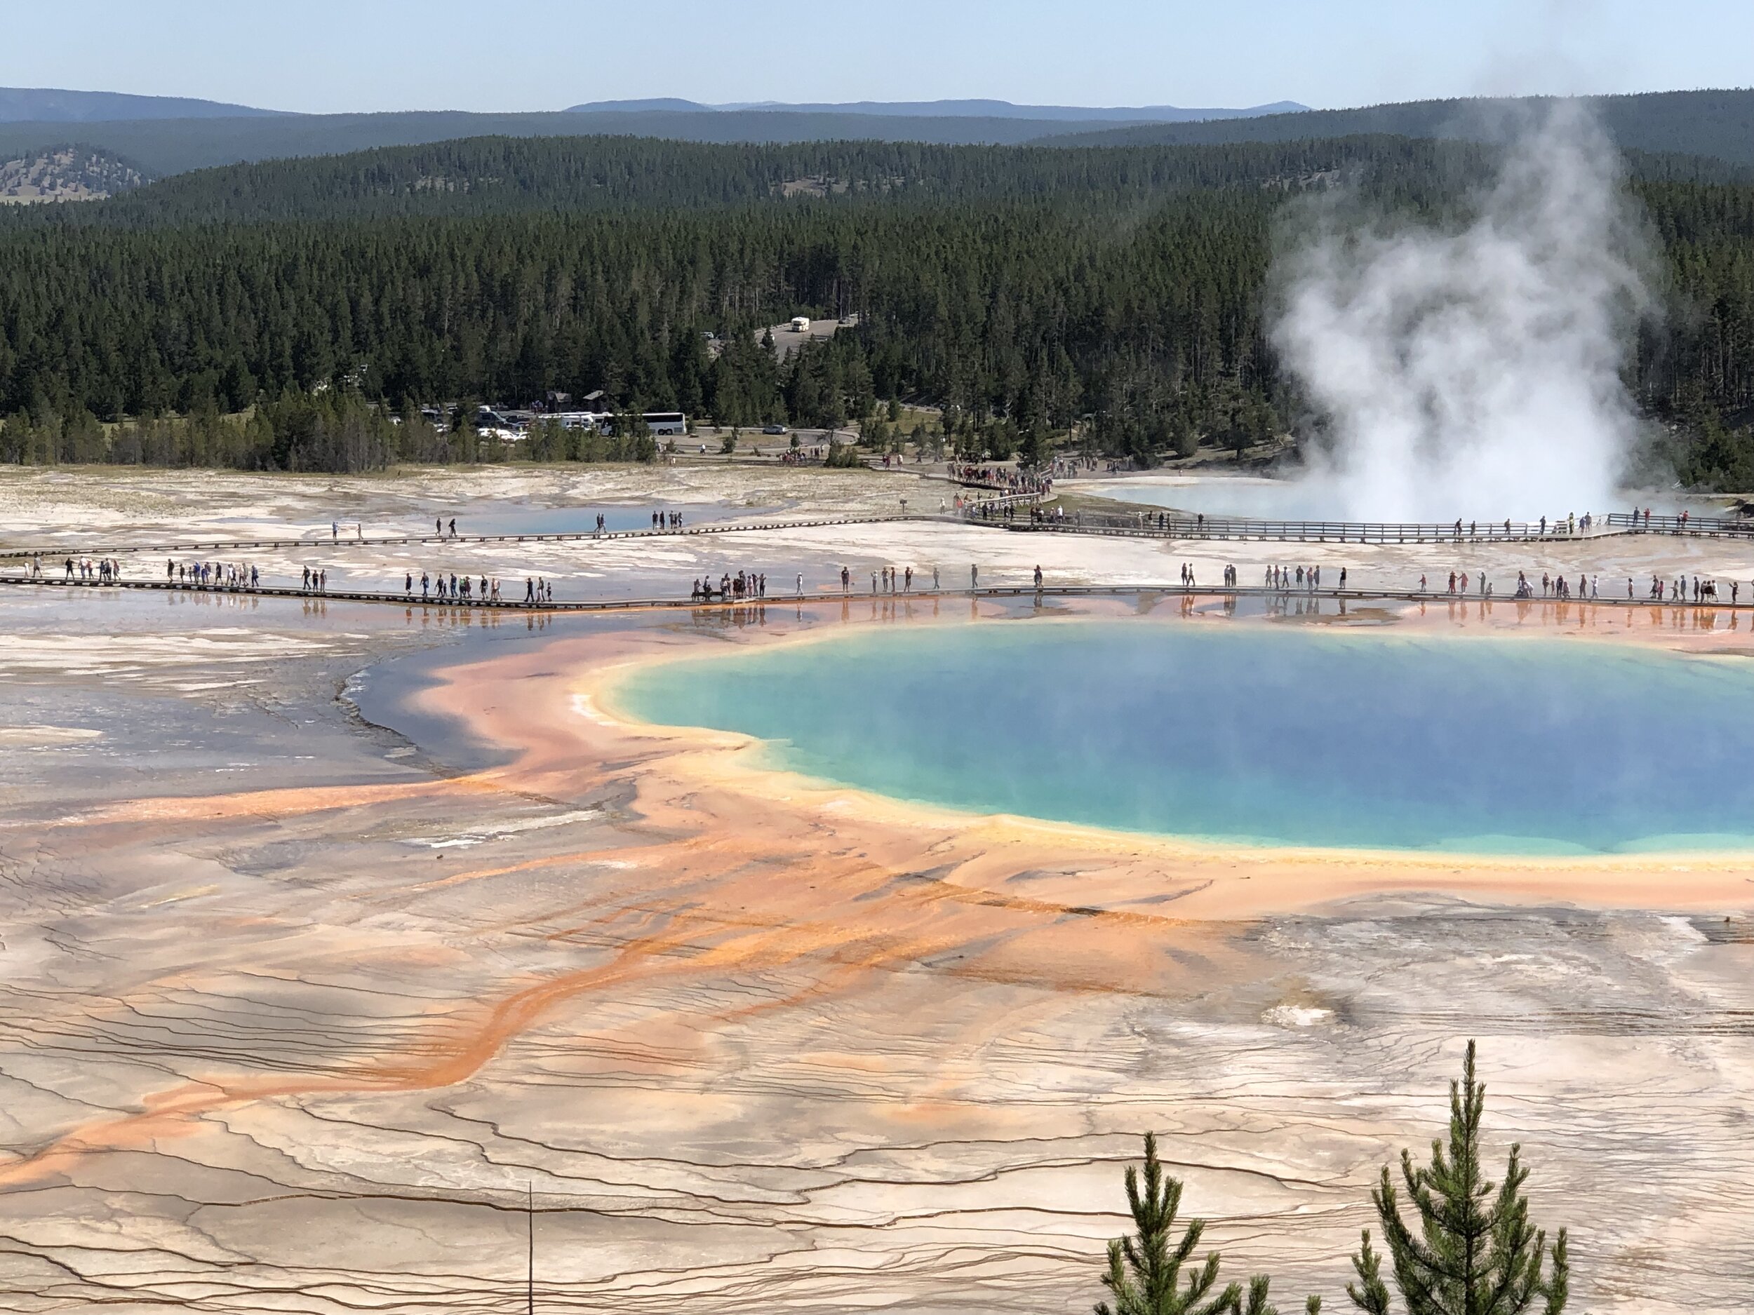
[{"label": "dense dark green conifer forest stretching behind the pale geyser basin", "polygon": [[[695,151],[707,163],[689,174]],[[86,219],[0,217],[0,416],[12,435],[0,454],[77,459],[95,423],[112,435],[170,414],[254,409],[279,424],[319,389],[400,414],[596,387],[621,410],[723,424],[830,424],[907,398],[945,409],[963,442],[1012,451],[1042,451],[1073,424],[1080,442],[1145,463],[1198,444],[1245,449],[1301,416],[1263,307],[1284,207],[1337,172],[1375,203],[1452,214],[1493,163],[1445,142],[1158,151],[1170,154],[621,142],[617,168],[656,179],[651,203],[196,223],[225,212],[198,205],[160,224],[116,219],[105,202]],[[854,158],[868,179],[930,160],[947,181],[674,203],[679,188],[700,198],[735,175],[772,191],[779,175]],[[1156,181],[1135,186],[1135,174]],[[1677,426],[1689,482],[1747,489],[1754,186],[1629,186],[1661,238],[1670,314],[1642,333],[1628,382]],[[859,324],[781,363],[758,335],[796,312],[856,312]],[[333,468],[402,459],[281,430],[226,451],[253,468],[284,468],[293,451],[347,452]]]}]

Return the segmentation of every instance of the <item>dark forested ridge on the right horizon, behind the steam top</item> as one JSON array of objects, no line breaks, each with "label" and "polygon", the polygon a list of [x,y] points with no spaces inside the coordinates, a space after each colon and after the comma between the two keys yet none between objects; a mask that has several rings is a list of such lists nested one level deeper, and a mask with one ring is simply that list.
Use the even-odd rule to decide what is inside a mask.
[{"label": "dark forested ridge on the right horizon, behind the steam top", "polygon": [[[1210,123],[1151,123],[1098,132],[1042,135],[1044,146],[1170,146],[1217,142],[1282,142],[1300,137],[1451,137],[1493,140],[1507,124],[1551,103],[1521,100],[1410,100],[1363,109],[1265,114]],[[1754,89],[1651,91],[1636,96],[1593,96],[1587,105],[1626,151],[1717,156],[1754,165]]]}]

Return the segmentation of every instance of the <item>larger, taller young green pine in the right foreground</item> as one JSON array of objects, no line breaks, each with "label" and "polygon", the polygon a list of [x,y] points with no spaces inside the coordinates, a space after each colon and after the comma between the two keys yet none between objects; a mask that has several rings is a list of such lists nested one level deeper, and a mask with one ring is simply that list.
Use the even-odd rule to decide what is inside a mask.
[{"label": "larger, taller young green pine in the right foreground", "polygon": [[[1449,1147],[1433,1141],[1431,1162],[1417,1169],[1412,1155],[1401,1152],[1401,1178],[1419,1217],[1417,1236],[1401,1220],[1386,1164],[1372,1192],[1407,1315],[1559,1315],[1565,1310],[1570,1282],[1565,1229],[1549,1250],[1547,1234],[1529,1224],[1522,1196],[1529,1171],[1522,1168],[1521,1147],[1510,1147],[1501,1184],[1494,1187],[1482,1176],[1484,1110],[1486,1087],[1475,1082],[1473,1041],[1468,1041],[1461,1082],[1449,1084]],[[1352,1304],[1370,1315],[1389,1315],[1382,1257],[1372,1250],[1368,1229],[1352,1268],[1358,1282],[1345,1289]]]}]

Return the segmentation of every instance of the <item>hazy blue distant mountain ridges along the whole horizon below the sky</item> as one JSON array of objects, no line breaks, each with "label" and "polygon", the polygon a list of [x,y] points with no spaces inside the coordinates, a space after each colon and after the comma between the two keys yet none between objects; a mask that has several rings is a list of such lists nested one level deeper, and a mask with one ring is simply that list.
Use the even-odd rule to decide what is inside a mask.
[{"label": "hazy blue distant mountain ridges along the whole horizon below the sky", "polygon": [[[1496,140],[1507,119],[1505,107],[1531,107],[1542,100],[1415,100],[1344,110],[1284,110],[1279,105],[1217,110],[1163,105],[1079,109],[984,100],[710,107],[658,98],[595,102],[554,114],[274,114],[160,96],[0,89],[0,163],[77,144],[109,151],[146,175],[167,177],[214,165],[330,156],[465,137],[600,135],[688,142],[875,140],[1054,147],[1296,142],[1358,133]],[[1754,165],[1754,89],[1596,96],[1591,103],[1614,140],[1629,151],[1712,156],[1733,165]],[[53,112],[61,117],[25,119],[25,112]],[[74,114],[116,117],[67,117]],[[79,128],[70,130],[68,123],[79,123]]]}]

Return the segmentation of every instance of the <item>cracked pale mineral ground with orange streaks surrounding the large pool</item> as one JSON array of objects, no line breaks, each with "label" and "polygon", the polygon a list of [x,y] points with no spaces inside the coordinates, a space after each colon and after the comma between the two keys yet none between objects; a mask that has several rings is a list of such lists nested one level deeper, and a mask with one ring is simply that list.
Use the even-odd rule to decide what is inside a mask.
[{"label": "cracked pale mineral ground with orange streaks surrounding the large pool", "polygon": [[[210,501],[181,477],[56,479],[0,480],[0,547],[328,533],[337,501],[370,526],[479,496],[449,475],[212,477]],[[637,503],[660,479],[565,496]],[[761,480],[668,496],[888,501]],[[1091,580],[1186,559],[1216,579],[1219,558],[1252,579],[1289,549],[896,522],[519,551],[456,549],[628,593],[724,563],[816,587],[844,561],[1021,573],[1037,552]],[[1384,579],[1454,556],[1296,551]],[[1750,573],[1703,540],[1468,551],[1494,573],[1519,552]],[[0,1304],[523,1310],[531,1199],[538,1310],[1079,1311],[1156,1129],[1228,1275],[1342,1308],[1370,1185],[1442,1133],[1472,1036],[1494,1169],[1519,1141],[1537,1220],[1572,1229],[1573,1308],[1754,1306],[1754,861],[1221,852],[966,817],[765,771],[605,698],[656,656],[1030,610],[0,591]],[[1749,647],[1728,610],[1421,610],[1373,624]]]}]

